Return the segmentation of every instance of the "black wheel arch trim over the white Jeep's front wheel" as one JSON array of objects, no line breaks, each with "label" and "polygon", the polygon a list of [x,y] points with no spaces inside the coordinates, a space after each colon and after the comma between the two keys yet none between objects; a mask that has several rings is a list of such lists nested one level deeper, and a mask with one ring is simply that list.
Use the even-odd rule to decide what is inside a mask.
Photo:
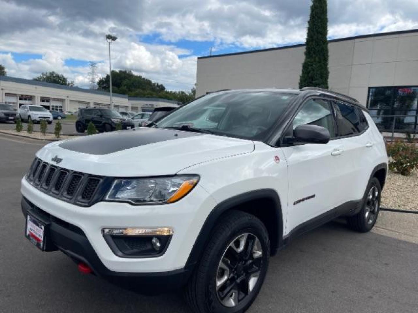
[{"label": "black wheel arch trim over the white Jeep's front wheel", "polygon": [[199,262],[201,255],[206,247],[209,239],[211,238],[211,233],[214,230],[214,227],[217,225],[219,217],[228,210],[232,210],[234,207],[237,207],[241,204],[248,203],[257,199],[269,199],[275,204],[275,220],[277,221],[277,227],[275,230],[275,238],[270,238],[274,240],[275,246],[270,250],[270,255],[275,255],[278,250],[278,247],[283,245],[283,215],[280,204],[280,198],[278,193],[274,189],[258,189],[250,192],[245,192],[238,194],[234,197],[226,199],[219,204],[210,212],[208,217],[199,232],[196,241],[194,242],[193,248],[187,259],[185,269],[193,268],[196,263]]}]

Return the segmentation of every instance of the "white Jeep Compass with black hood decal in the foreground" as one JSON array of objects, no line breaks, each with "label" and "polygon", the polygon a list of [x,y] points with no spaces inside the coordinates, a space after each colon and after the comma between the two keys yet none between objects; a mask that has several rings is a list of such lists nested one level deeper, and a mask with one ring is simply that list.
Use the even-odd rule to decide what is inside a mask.
[{"label": "white Jeep Compass with black hood decal in the foreground", "polygon": [[194,312],[243,312],[293,237],[341,216],[369,231],[386,172],[353,98],[221,91],[148,128],[43,147],[22,179],[25,234],[84,273],[146,293],[184,286]]}]

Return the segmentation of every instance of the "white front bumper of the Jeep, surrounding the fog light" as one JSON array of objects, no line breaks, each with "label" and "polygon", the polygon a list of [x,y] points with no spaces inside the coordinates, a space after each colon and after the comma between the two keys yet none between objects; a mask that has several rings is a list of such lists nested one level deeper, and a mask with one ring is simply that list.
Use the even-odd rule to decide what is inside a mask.
[{"label": "white front bumper of the Jeep, surrounding the fog light", "polygon": [[[81,254],[78,257],[79,260],[86,259],[85,263],[92,265],[98,275],[104,276],[117,276],[119,275],[117,273],[124,273],[120,274],[122,276],[135,276],[162,272],[169,275],[172,271],[182,271],[206,217],[216,205],[213,198],[199,185],[178,202],[147,206],[98,202],[91,207],[79,207],[44,194],[28,183],[25,178],[22,179],[21,192],[29,203],[38,207],[46,215],[62,220],[80,230],[76,232],[76,235],[71,235],[79,240],[75,242],[63,240],[64,245],[55,239],[56,245],[67,254]],[[22,206],[25,205],[24,203]],[[27,206],[25,207],[26,211],[30,210]],[[102,235],[103,228],[119,227],[171,227],[174,234],[163,255],[126,258],[115,255]],[[60,230],[59,234],[61,234],[56,235],[55,238],[68,237],[68,232],[61,228],[55,227]],[[80,240],[84,242],[82,253],[80,253],[80,244],[77,243]],[[89,247],[87,249],[89,253],[85,252],[86,245]]]}]

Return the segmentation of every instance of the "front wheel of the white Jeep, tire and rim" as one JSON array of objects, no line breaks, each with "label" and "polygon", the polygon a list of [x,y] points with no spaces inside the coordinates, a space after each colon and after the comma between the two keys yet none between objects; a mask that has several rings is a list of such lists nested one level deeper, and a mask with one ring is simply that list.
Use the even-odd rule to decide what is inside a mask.
[{"label": "front wheel of the white Jeep, tire and rim", "polygon": [[196,313],[245,312],[267,273],[270,242],[263,222],[235,210],[219,220],[184,292]]}]

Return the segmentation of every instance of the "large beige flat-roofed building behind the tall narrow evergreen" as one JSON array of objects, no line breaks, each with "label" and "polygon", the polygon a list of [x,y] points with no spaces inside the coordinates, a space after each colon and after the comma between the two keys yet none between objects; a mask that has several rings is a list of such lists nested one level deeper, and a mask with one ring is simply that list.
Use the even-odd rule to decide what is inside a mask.
[{"label": "large beige flat-roofed building behind the tall narrow evergreen", "polygon": [[[384,115],[410,115],[417,126],[418,30],[329,40],[329,88],[359,100],[390,126]],[[305,45],[200,57],[196,96],[222,89],[298,88]],[[405,125],[404,125],[405,126]]]}]

